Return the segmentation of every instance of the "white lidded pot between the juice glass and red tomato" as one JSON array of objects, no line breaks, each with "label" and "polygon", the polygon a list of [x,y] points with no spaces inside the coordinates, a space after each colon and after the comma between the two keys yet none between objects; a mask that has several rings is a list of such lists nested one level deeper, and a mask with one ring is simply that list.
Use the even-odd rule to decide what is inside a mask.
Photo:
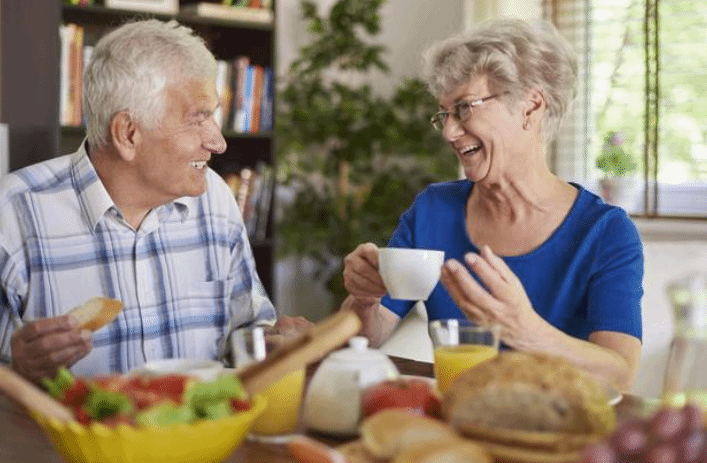
[{"label": "white lidded pot between the juice glass and red tomato", "polygon": [[400,372],[383,352],[368,348],[368,339],[355,336],[349,347],[327,356],[317,368],[304,400],[307,429],[351,436],[361,418],[361,391]]}]

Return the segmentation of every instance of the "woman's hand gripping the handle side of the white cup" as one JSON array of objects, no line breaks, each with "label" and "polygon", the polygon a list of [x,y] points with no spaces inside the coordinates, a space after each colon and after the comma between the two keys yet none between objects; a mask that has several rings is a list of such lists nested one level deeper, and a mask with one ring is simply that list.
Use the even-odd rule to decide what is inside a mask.
[{"label": "woman's hand gripping the handle side of the white cup", "polygon": [[386,293],[378,273],[378,246],[359,244],[344,258],[344,287],[356,300],[354,307],[376,306]]}]

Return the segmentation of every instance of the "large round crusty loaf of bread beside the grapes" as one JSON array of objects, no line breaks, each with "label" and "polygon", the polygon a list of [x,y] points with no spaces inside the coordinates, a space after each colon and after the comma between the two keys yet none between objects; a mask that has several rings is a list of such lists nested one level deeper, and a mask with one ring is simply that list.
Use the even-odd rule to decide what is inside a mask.
[{"label": "large round crusty loaf of bread beside the grapes", "polygon": [[512,351],[460,374],[443,397],[442,414],[472,437],[521,436],[541,445],[603,435],[616,425],[593,377],[558,357]]}]

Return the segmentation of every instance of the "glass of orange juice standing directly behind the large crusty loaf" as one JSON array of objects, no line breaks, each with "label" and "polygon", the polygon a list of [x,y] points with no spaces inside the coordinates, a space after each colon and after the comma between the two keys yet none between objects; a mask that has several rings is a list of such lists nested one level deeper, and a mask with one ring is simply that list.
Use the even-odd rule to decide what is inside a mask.
[{"label": "glass of orange juice standing directly behind the large crusty loaf", "polygon": [[433,320],[428,330],[434,348],[434,375],[444,393],[459,373],[498,355],[500,328],[476,326],[466,319]]}]

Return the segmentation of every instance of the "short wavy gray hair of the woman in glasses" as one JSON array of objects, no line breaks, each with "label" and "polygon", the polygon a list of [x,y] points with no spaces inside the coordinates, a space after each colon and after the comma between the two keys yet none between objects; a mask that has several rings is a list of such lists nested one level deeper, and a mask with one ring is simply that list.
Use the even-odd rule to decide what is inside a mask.
[{"label": "short wavy gray hair of the woman in glasses", "polygon": [[540,90],[547,104],[546,142],[557,136],[577,94],[575,52],[547,21],[487,21],[433,45],[424,60],[425,79],[436,98],[480,75],[488,77],[494,91],[509,91],[510,103],[530,89]]}]

